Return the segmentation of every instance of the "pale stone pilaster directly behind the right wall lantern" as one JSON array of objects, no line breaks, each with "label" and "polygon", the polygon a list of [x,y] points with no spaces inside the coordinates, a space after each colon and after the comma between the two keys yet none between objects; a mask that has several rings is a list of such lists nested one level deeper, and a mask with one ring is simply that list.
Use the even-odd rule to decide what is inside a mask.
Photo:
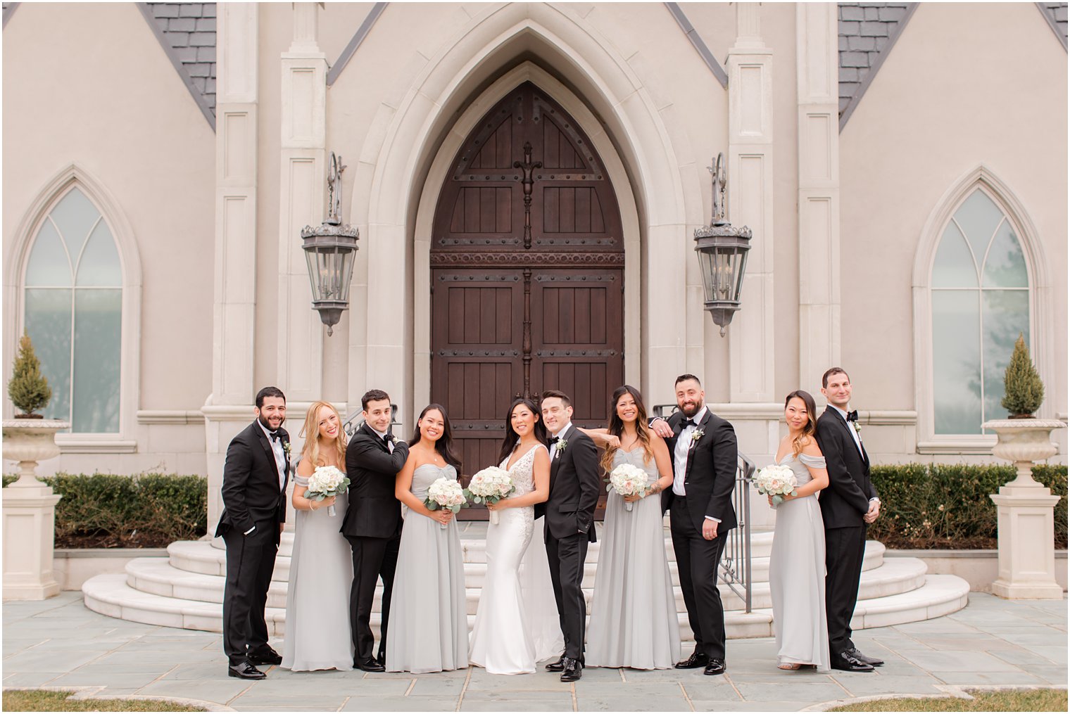
[{"label": "pale stone pilaster directly behind the right wall lantern", "polygon": [[739,296],[744,307],[729,327],[730,398],[756,403],[776,399],[773,50],[762,40],[760,12],[756,2],[736,3],[736,41],[728,59],[728,218],[754,236]]}]

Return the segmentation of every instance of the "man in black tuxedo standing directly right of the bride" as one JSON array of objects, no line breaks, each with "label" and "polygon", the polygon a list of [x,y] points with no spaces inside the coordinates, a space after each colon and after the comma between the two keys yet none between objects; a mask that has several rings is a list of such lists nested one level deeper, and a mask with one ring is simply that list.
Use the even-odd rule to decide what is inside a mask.
[{"label": "man in black tuxedo standing directly right of the bride", "polygon": [[550,497],[535,507],[535,517],[546,514],[546,555],[565,637],[564,654],[546,668],[561,672],[562,682],[575,682],[583,676],[587,610],[580,586],[587,543],[595,542],[595,506],[601,491],[598,455],[591,437],[572,426],[572,404],[567,394],[544,392],[541,410],[542,421],[553,435]]}]

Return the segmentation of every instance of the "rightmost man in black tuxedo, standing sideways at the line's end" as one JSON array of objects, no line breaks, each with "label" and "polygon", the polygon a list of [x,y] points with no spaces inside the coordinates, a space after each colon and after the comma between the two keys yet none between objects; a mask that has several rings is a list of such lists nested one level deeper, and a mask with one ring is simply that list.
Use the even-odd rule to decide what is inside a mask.
[{"label": "rightmost man in black tuxedo, standing sideways at the line's end", "polygon": [[821,377],[828,407],[817,419],[817,445],[825,454],[828,487],[821,493],[825,521],[825,612],[832,667],[870,672],[884,664],[867,657],[851,641],[851,617],[866,555],[866,526],[881,513],[881,499],[870,481],[869,455],[862,446],[858,413],[851,410],[851,378],[834,367]]}]

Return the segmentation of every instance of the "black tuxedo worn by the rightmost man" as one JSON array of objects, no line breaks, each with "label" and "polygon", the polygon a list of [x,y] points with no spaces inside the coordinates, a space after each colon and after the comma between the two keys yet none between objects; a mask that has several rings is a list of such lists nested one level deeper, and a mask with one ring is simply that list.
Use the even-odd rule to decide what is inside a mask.
[{"label": "black tuxedo worn by the rightmost man", "polygon": [[[821,492],[825,522],[825,612],[828,647],[835,658],[854,648],[851,617],[858,601],[858,580],[866,555],[866,522],[876,490],[870,481],[869,455],[859,450],[853,426],[828,406],[817,419],[817,446],[825,454],[828,487]],[[859,439],[860,441],[860,439]]]}]

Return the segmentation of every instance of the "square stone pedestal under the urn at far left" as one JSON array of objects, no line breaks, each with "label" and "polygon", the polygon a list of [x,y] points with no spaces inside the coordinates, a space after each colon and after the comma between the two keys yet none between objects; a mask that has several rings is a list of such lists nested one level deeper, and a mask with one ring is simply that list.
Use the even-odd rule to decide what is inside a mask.
[{"label": "square stone pedestal under the urn at far left", "polygon": [[49,486],[3,490],[3,599],[44,600],[60,592],[52,574],[56,503]]}]

